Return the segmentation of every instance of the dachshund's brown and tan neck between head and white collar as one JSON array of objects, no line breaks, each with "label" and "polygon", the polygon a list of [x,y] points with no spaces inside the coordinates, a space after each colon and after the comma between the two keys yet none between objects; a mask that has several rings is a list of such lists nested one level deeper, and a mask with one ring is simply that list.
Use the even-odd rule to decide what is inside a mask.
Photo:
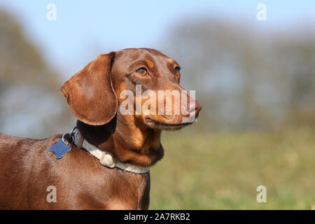
[{"label": "dachshund's brown and tan neck between head and white collar", "polygon": [[133,116],[117,115],[105,125],[87,125],[80,120],[77,128],[90,144],[112,153],[120,162],[151,167],[162,159],[161,130],[141,125]]}]

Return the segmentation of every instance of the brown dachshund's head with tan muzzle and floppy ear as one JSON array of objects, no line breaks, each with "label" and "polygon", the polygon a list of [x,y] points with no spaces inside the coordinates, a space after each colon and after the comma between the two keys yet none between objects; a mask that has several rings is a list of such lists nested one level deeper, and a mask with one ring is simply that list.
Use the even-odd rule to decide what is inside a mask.
[{"label": "brown dachshund's head with tan muzzle and floppy ear", "polygon": [[130,48],[99,55],[61,90],[73,115],[88,125],[104,125],[117,114],[148,128],[178,130],[194,123],[201,110],[180,80],[174,59]]}]

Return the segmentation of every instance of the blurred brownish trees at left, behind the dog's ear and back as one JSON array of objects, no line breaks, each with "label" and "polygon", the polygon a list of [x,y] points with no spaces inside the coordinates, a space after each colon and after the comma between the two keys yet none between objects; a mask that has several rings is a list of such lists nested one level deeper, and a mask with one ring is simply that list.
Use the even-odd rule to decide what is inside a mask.
[{"label": "blurred brownish trees at left, behind the dog's ear and back", "polygon": [[12,15],[0,10],[0,21],[0,132],[47,137],[71,129],[60,76]]}]

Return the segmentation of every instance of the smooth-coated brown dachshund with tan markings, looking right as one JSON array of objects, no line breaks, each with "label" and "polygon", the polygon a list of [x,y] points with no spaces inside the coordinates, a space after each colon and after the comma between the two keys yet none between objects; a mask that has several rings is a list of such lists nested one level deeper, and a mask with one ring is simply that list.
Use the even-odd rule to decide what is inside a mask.
[{"label": "smooth-coated brown dachshund with tan markings, looking right", "polygon": [[[61,91],[88,144],[123,166],[148,171],[164,155],[161,131],[193,123],[201,110],[200,103],[179,85],[179,69],[177,62],[158,50],[119,50],[99,55],[66,81]],[[157,96],[161,90],[186,94],[180,113],[175,113],[176,94],[171,95],[171,113],[164,114],[160,105],[164,111],[166,97],[161,103],[160,97],[146,96],[147,90]],[[128,94],[133,97],[127,100]],[[151,99],[150,105],[146,99]],[[193,120],[183,122],[190,117]],[[76,141],[57,160],[49,149],[61,137],[0,134],[0,209],[148,209],[150,172],[109,168]],[[52,188],[56,198],[50,201]]]}]

